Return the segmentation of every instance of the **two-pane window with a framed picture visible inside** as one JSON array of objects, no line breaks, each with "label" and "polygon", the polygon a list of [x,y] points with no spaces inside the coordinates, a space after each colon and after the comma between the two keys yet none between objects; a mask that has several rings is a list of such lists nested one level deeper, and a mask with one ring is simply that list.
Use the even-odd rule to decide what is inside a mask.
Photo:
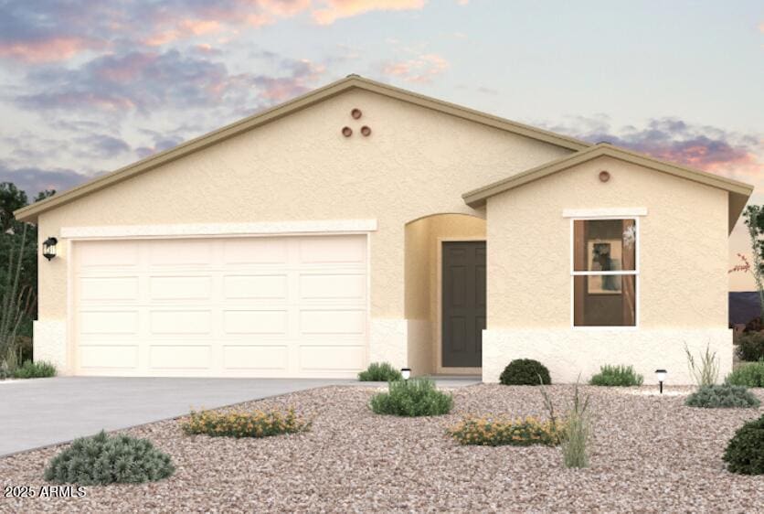
[{"label": "two-pane window with a framed picture visible inside", "polygon": [[573,326],[636,327],[637,220],[573,220]]}]

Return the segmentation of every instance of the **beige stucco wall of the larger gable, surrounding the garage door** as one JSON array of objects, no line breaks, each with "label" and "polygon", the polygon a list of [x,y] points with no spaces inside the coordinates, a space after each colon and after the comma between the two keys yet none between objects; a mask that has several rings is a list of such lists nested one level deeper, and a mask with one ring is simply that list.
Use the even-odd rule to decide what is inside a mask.
[{"label": "beige stucco wall of the larger gable, surrounding the garage door", "polygon": [[[363,111],[361,120],[350,117],[355,107]],[[360,135],[364,124],[370,137]],[[345,125],[355,131],[350,138],[340,134]],[[432,213],[472,214],[461,198],[465,191],[569,153],[352,90],[44,213],[39,233],[59,237],[61,227],[77,226],[376,219],[369,355],[402,365],[405,224]],[[59,247],[60,258],[39,262],[41,324],[67,318],[66,241]]]}]

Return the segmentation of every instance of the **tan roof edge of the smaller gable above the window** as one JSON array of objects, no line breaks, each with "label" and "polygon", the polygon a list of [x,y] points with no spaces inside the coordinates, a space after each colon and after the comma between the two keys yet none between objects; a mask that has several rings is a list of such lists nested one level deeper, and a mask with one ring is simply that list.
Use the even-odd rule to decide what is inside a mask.
[{"label": "tan roof edge of the smaller gable above the window", "polygon": [[753,186],[738,182],[731,178],[720,177],[713,173],[700,171],[699,169],[693,169],[691,167],[667,163],[665,161],[653,159],[653,157],[648,155],[631,152],[631,150],[625,150],[607,143],[599,143],[590,146],[586,150],[581,150],[575,154],[567,155],[560,159],[548,162],[545,165],[537,166],[522,173],[493,182],[493,184],[489,184],[488,186],[473,189],[468,193],[464,193],[462,198],[464,198],[467,205],[472,208],[482,207],[485,205],[485,200],[487,198],[504,193],[504,191],[509,191],[515,187],[523,186],[529,182],[534,182],[540,178],[548,177],[570,167],[578,166],[603,155],[633,165],[643,166],[655,171],[674,175],[674,177],[682,177],[687,180],[692,180],[693,182],[727,191],[729,193],[729,231],[732,231],[733,227],[735,227],[737,218],[746,206],[748,197],[750,197],[750,194],[753,192]]}]

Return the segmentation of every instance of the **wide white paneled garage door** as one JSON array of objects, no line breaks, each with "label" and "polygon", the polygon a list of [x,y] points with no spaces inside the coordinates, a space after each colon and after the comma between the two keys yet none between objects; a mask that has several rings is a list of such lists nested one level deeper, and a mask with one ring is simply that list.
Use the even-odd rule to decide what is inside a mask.
[{"label": "wide white paneled garage door", "polygon": [[352,377],[366,236],[77,241],[80,375]]}]

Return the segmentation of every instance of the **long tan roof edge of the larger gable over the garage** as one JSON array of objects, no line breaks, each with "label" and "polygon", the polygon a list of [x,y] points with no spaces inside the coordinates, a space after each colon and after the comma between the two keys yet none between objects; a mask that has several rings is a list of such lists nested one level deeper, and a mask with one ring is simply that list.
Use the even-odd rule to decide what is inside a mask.
[{"label": "long tan roof edge of the larger gable over the garage", "polygon": [[524,135],[538,141],[543,141],[551,145],[561,146],[570,150],[581,150],[589,147],[589,143],[579,141],[573,137],[566,135],[555,134],[546,130],[541,130],[536,127],[525,125],[523,123],[516,123],[510,120],[505,120],[492,114],[486,114],[485,112],[474,111],[454,103],[442,102],[428,96],[424,96],[415,92],[402,90],[393,86],[388,86],[375,80],[368,80],[358,75],[348,75],[345,79],[337,80],[331,84],[319,88],[314,91],[310,91],[302,96],[299,96],[289,102],[281,103],[276,107],[273,107],[267,111],[259,112],[239,122],[226,125],[214,132],[205,134],[181,145],[177,145],[174,148],[160,152],[159,154],[151,155],[129,166],[124,166],[116,171],[111,172],[108,175],[95,178],[86,182],[78,187],[72,187],[68,191],[64,191],[54,195],[53,197],[39,201],[32,205],[28,205],[23,209],[18,209],[14,212],[17,220],[22,221],[34,221],[37,216],[50,209],[55,209],[61,205],[67,204],[72,200],[94,193],[104,187],[109,187],[127,178],[134,177],[136,175],[150,171],[156,167],[163,166],[167,163],[179,159],[185,155],[189,155],[198,150],[207,148],[208,146],[215,145],[221,141],[224,141],[235,135],[245,133],[253,128],[259,127],[265,123],[278,120],[284,116],[292,114],[292,112],[300,111],[306,107],[310,107],[318,102],[322,102],[328,98],[332,98],[342,92],[352,89],[359,89],[364,91],[371,91],[377,94],[387,96],[388,98],[394,98],[402,102],[409,102],[420,107],[431,109],[433,111],[444,112],[451,116],[456,116],[464,120],[469,120],[475,123],[482,123],[506,132],[513,134]]}]

